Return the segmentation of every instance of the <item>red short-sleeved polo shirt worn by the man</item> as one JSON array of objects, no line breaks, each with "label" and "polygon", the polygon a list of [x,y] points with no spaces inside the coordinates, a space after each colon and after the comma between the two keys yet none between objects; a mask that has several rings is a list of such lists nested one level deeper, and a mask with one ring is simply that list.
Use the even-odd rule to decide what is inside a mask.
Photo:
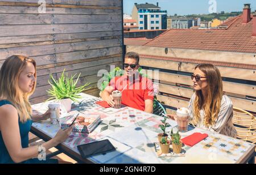
[{"label": "red short-sleeved polo shirt worn by the man", "polygon": [[126,75],[113,78],[109,86],[115,90],[122,91],[122,104],[131,108],[144,110],[145,100],[154,100],[153,83],[150,79],[139,76],[138,79],[132,80]]}]

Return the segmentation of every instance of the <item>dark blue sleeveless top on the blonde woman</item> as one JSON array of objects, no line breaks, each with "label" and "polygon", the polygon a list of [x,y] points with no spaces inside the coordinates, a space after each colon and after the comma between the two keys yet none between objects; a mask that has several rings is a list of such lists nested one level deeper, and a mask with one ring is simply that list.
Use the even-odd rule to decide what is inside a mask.
[{"label": "dark blue sleeveless top on the blonde woman", "polygon": [[[0,100],[0,106],[10,104],[10,101],[7,100]],[[30,132],[32,120],[28,119],[26,122],[22,123],[19,122],[19,133],[20,133],[20,139],[22,148],[28,147],[28,133]],[[57,163],[57,159],[47,159],[46,161],[39,161],[38,159],[29,159],[26,161],[23,161],[22,163]],[[0,131],[0,164],[14,164],[14,161],[11,159],[9,152],[7,151],[7,148],[5,146],[5,142],[3,142],[2,133]]]}]

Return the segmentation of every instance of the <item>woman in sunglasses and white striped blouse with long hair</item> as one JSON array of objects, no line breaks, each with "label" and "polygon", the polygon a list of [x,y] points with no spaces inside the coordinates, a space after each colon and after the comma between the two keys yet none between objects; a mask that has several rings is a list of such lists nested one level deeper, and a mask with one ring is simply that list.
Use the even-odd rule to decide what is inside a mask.
[{"label": "woman in sunglasses and white striped blouse with long hair", "polygon": [[[196,91],[188,105],[192,124],[236,138],[237,132],[232,123],[232,101],[223,93],[222,79],[217,67],[211,64],[197,65],[191,79]],[[175,115],[167,116],[176,120]]]}]

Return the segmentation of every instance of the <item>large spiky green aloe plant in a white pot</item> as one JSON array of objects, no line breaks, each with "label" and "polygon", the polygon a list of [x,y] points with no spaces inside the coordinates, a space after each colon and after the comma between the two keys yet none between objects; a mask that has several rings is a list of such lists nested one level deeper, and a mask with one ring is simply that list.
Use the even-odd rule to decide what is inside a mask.
[{"label": "large spiky green aloe plant in a white pot", "polygon": [[77,76],[77,79],[75,80],[75,75],[71,75],[71,77],[68,77],[68,73],[64,75],[65,69],[62,72],[59,79],[55,80],[52,76],[52,74],[49,75],[49,78],[51,80],[48,80],[48,83],[51,84],[51,88],[47,91],[48,95],[51,96],[48,100],[56,99],[60,101],[60,103],[64,106],[65,110],[69,112],[71,110],[71,104],[72,100],[77,101],[77,99],[80,99],[81,96],[79,93],[89,89],[85,88],[90,83],[86,83],[83,86],[76,87],[77,82],[79,80],[79,77],[81,73]]}]

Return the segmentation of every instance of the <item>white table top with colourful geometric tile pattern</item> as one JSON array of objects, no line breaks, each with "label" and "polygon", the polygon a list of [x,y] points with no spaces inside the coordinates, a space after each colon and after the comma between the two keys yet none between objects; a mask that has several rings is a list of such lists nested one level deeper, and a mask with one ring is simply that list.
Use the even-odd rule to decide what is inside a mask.
[{"label": "white table top with colourful geometric tile pattern", "polygon": [[[80,144],[109,139],[117,150],[88,158],[95,163],[237,163],[253,146],[225,135],[190,127],[187,133],[180,133],[181,138],[195,132],[207,133],[208,138],[193,147],[183,146],[185,156],[158,157],[154,142],[157,142],[157,135],[161,133],[159,124],[162,117],[127,106],[122,106],[121,109],[102,108],[95,104],[98,100],[100,99],[97,97],[82,93],[80,103],[72,104],[71,114],[77,112],[88,115],[100,114],[101,123],[92,133],[72,133],[63,143],[72,151],[79,153],[77,146]],[[32,105],[34,113],[44,113],[50,102]],[[61,116],[60,122],[64,122],[67,116],[67,114]],[[167,131],[171,128],[176,131],[176,122],[170,119],[168,122],[171,126]],[[51,125],[49,119],[35,122],[32,127],[51,138],[60,129],[59,125]]]}]

